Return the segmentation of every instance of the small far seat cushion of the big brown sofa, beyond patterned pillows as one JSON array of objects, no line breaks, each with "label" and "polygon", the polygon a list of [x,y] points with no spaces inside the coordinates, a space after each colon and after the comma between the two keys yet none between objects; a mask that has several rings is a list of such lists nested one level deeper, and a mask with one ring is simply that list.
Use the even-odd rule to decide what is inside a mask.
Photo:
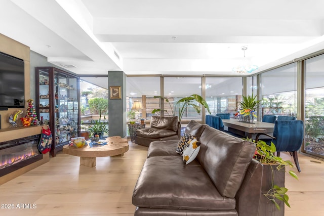
[{"label": "small far seat cushion of the big brown sofa, beyond patterned pillows", "polygon": [[179,140],[153,141],[147,150],[147,157],[153,156],[178,156],[175,151]]}]

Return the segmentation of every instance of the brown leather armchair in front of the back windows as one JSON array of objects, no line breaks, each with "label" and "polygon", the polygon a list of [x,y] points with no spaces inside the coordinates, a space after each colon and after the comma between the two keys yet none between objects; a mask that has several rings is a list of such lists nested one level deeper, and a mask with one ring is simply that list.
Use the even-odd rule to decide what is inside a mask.
[{"label": "brown leather armchair in front of the back windows", "polygon": [[135,143],[148,147],[153,141],[180,139],[181,126],[178,119],[178,116],[152,116],[150,127],[135,131]]}]

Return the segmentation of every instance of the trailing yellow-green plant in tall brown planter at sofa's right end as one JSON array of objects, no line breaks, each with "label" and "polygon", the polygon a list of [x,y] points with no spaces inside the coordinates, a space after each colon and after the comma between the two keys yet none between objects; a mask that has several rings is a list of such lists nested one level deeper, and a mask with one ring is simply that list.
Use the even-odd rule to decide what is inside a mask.
[{"label": "trailing yellow-green plant in tall brown planter at sofa's right end", "polygon": [[[269,146],[264,141],[255,141],[255,159],[263,164],[261,191],[263,196],[260,199],[259,213],[261,215],[284,215],[285,204],[290,207],[289,196],[286,194],[288,189],[285,187],[286,166],[293,167],[290,160],[283,160],[275,156],[275,145],[271,142]],[[294,171],[289,170],[290,176],[298,180]]]}]

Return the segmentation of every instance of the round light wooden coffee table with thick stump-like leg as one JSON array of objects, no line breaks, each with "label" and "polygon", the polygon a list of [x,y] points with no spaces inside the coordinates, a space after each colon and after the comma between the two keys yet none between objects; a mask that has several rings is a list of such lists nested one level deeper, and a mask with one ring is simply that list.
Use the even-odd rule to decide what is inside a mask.
[{"label": "round light wooden coffee table with thick stump-like leg", "polygon": [[106,138],[107,144],[100,147],[85,145],[82,148],[63,146],[63,153],[80,157],[80,165],[96,166],[97,157],[123,156],[128,151],[127,139],[114,136]]}]

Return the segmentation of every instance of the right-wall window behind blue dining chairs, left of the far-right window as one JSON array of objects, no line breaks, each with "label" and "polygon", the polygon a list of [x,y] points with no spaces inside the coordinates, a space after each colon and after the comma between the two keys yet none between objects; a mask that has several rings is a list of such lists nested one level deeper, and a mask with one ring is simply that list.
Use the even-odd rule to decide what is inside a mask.
[{"label": "right-wall window behind blue dining chairs, left of the far-right window", "polygon": [[261,74],[261,119],[263,115],[297,115],[297,64]]}]

